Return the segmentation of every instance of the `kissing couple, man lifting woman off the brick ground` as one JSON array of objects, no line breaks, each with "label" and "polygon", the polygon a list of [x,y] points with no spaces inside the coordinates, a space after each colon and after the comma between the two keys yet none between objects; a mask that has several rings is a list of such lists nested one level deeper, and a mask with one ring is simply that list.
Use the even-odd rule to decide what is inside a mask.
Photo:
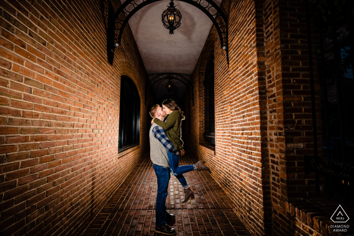
[{"label": "kissing couple, man lifting woman off the brick ground", "polygon": [[[180,181],[184,188],[185,196],[181,203],[187,203],[189,199],[194,199],[194,193],[183,174],[192,170],[206,170],[210,173],[210,169],[204,165],[205,161],[199,161],[195,165],[179,166],[179,157],[185,153],[181,139],[181,122],[185,116],[174,101],[167,99],[162,102],[162,107],[153,106],[150,109],[150,115],[153,118],[149,131],[150,158],[157,177],[155,231],[174,234],[175,229],[166,224],[166,219],[175,217],[166,211],[165,206],[170,173]],[[166,116],[167,119],[164,122]]]}]

